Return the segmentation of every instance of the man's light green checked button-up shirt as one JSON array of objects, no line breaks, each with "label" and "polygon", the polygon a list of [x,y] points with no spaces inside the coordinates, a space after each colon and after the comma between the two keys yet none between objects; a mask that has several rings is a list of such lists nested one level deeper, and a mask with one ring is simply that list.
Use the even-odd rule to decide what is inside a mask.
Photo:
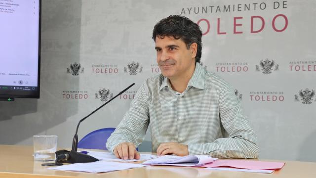
[{"label": "man's light green checked button-up shirt", "polygon": [[161,74],[148,78],[107,141],[139,146],[151,126],[152,151],[163,142],[187,144],[191,155],[258,158],[256,135],[243,114],[234,88],[197,63],[183,92],[174,91]]}]

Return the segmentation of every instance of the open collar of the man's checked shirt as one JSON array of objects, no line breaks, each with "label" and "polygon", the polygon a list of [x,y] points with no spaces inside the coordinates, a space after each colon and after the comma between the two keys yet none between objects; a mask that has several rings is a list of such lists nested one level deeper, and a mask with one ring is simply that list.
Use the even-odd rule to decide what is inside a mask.
[{"label": "open collar of the man's checked shirt", "polygon": [[[196,69],[194,70],[194,73],[188,83],[188,87],[192,86],[197,89],[205,89],[204,88],[204,74],[205,74],[205,70],[199,63],[197,63]],[[163,81],[160,85],[159,90],[163,89],[164,87],[169,87],[169,88],[171,87],[168,82],[168,78],[166,77],[163,77]]]}]

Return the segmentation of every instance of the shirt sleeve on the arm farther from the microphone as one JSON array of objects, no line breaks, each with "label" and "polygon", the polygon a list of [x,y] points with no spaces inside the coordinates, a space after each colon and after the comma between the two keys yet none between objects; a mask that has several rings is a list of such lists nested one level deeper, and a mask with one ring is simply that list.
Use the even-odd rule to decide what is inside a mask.
[{"label": "shirt sleeve on the arm farther from the microphone", "polygon": [[258,158],[257,137],[230,85],[220,92],[219,114],[225,137],[211,143],[188,144],[189,154],[208,154],[214,158]]}]

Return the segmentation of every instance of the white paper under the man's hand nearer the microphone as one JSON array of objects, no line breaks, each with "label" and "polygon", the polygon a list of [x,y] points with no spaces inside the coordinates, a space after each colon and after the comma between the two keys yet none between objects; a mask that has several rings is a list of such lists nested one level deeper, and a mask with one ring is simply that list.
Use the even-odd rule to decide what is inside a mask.
[{"label": "white paper under the man's hand nearer the microphone", "polygon": [[114,154],[110,152],[103,152],[103,151],[80,151],[80,152],[88,152],[87,155],[90,155],[100,161],[119,161],[119,162],[135,162],[135,161],[144,161],[149,160],[152,158],[157,158],[158,156],[152,154],[140,154],[140,159],[132,159],[132,160],[123,160],[117,158]]}]

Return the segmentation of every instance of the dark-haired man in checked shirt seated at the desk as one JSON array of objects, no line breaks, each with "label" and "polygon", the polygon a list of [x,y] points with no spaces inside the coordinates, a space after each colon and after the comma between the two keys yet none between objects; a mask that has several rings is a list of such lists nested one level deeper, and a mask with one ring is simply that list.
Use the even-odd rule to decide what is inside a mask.
[{"label": "dark-haired man in checked shirt seated at the desk", "polygon": [[121,159],[139,159],[136,147],[151,125],[152,151],[218,158],[258,158],[256,135],[234,89],[199,64],[202,32],[173,15],[153,31],[161,74],[147,79],[109,137],[107,148]]}]

